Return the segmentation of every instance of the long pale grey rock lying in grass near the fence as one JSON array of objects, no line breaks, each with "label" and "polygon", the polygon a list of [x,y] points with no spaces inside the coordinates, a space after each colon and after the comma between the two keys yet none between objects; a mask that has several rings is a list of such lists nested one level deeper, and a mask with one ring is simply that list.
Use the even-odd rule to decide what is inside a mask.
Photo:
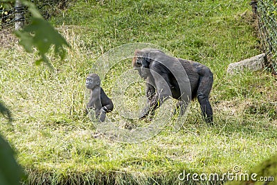
[{"label": "long pale grey rock lying in grass near the fence", "polygon": [[250,71],[262,71],[265,67],[266,56],[265,53],[256,55],[252,58],[247,58],[240,62],[231,63],[228,66],[227,73],[234,74],[243,71],[244,69]]}]

